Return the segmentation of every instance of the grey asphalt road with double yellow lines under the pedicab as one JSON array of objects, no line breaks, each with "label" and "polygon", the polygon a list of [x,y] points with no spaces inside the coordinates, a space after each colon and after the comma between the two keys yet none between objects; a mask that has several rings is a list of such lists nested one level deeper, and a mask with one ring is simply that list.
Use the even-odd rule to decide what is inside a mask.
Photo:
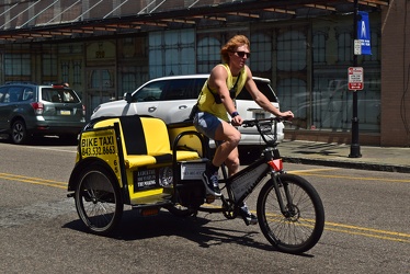
[{"label": "grey asphalt road with double yellow lines under the pedicab", "polygon": [[319,243],[291,255],[220,214],[127,210],[112,237],[88,233],[66,197],[72,144],[0,141],[0,273],[409,273],[405,173],[285,164],[315,185],[327,218]]}]

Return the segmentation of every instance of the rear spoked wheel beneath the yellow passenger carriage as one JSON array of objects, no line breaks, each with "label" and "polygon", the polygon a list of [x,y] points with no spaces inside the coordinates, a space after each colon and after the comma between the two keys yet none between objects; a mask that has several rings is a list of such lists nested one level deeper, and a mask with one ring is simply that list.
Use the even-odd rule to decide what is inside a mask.
[{"label": "rear spoked wheel beneath the yellow passenger carriage", "polygon": [[118,183],[100,165],[91,165],[79,176],[75,199],[77,213],[96,235],[107,235],[123,215]]}]

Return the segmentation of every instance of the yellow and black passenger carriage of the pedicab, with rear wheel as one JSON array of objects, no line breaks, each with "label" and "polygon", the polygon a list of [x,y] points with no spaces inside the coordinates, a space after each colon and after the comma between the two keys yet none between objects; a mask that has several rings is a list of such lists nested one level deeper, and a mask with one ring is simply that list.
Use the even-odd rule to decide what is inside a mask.
[{"label": "yellow and black passenger carriage of the pedicab, with rear wheel", "polygon": [[[91,121],[79,135],[68,196],[75,198],[82,222],[98,235],[115,228],[124,205],[144,216],[161,208],[184,214],[185,206],[197,207],[205,196],[204,141],[189,122],[167,126],[139,115]],[[176,183],[182,180],[184,184]]]}]

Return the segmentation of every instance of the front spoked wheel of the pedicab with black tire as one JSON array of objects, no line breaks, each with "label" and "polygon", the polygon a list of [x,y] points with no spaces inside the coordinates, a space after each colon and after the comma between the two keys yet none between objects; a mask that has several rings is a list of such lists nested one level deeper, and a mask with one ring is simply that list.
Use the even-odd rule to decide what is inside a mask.
[{"label": "front spoked wheel of the pedicab with black tire", "polygon": [[[319,194],[305,179],[281,174],[278,192],[285,205],[281,212],[272,180],[261,190],[258,197],[258,219],[263,235],[277,248],[287,253],[303,253],[315,247],[324,227],[324,209]],[[291,199],[288,203],[286,194]]]}]

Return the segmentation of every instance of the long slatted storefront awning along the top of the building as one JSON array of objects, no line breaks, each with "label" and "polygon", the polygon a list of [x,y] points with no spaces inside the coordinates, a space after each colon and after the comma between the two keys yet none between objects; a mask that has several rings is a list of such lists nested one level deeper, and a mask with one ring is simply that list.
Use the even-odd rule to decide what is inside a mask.
[{"label": "long slatted storefront awning along the top of the building", "polygon": [[[308,19],[353,12],[354,0],[11,0],[0,4],[0,42],[138,33],[184,25]],[[388,0],[357,0],[380,9]]]}]

